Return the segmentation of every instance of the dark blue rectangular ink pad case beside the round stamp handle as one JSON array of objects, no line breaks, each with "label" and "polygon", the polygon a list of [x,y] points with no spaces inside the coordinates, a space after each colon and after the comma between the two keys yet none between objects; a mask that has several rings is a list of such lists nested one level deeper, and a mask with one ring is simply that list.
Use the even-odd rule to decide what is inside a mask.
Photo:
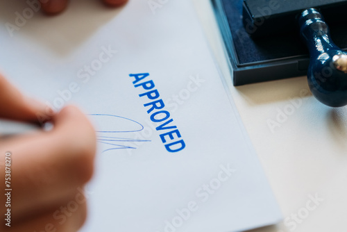
[{"label": "dark blue rectangular ink pad case beside the round stamp handle", "polygon": [[[257,2],[257,5],[254,5],[254,2]],[[305,43],[301,40],[295,9],[298,6],[306,8],[305,4],[313,3],[282,0],[289,6],[279,8],[280,2],[280,0],[246,0],[245,3],[244,0],[212,0],[230,60],[234,85],[307,75],[310,56]],[[247,3],[249,6],[245,6]],[[344,18],[346,18],[347,1],[316,0],[314,5],[325,16],[330,26],[332,40],[346,51],[347,24]]]}]

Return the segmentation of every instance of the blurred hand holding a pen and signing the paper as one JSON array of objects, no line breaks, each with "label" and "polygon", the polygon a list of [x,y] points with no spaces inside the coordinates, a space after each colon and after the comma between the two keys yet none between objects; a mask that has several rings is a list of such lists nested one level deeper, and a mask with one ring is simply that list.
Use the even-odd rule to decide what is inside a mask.
[{"label": "blurred hand holding a pen and signing the paper", "polygon": [[[0,117],[37,122],[48,108],[0,76]],[[85,221],[83,185],[93,173],[96,138],[74,106],[51,113],[51,131],[0,139],[0,231],[77,231]],[[11,227],[6,226],[5,156],[11,153]]]}]

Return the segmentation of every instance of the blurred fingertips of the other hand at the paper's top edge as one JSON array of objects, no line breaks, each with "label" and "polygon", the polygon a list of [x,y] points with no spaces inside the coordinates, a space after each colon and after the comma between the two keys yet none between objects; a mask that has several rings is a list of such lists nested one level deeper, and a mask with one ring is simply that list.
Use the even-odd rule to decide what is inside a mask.
[{"label": "blurred fingertips of the other hand at the paper's top edge", "polygon": [[[117,7],[126,3],[128,0],[99,0],[108,6]],[[67,7],[69,0],[40,0],[44,13],[54,15],[61,13]]]}]

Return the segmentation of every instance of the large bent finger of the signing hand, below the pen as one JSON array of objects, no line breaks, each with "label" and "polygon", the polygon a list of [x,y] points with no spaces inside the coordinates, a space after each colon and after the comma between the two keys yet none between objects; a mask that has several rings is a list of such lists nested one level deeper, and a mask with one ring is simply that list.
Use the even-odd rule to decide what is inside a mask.
[{"label": "large bent finger of the signing hand, below the pen", "polygon": [[52,131],[0,141],[0,154],[10,151],[13,160],[12,210],[20,212],[17,218],[65,199],[92,176],[96,138],[87,117],[68,106],[53,117],[53,124]]}]

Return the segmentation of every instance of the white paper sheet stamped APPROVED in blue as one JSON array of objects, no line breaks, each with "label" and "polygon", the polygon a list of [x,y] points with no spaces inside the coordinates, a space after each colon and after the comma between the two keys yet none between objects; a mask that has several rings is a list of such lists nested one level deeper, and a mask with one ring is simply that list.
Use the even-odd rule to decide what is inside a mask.
[{"label": "white paper sheet stamped APPROVED in blue", "polygon": [[0,1],[2,73],[56,110],[76,104],[98,131],[81,231],[243,231],[281,219],[190,1],[71,1],[56,17],[15,2]]}]

